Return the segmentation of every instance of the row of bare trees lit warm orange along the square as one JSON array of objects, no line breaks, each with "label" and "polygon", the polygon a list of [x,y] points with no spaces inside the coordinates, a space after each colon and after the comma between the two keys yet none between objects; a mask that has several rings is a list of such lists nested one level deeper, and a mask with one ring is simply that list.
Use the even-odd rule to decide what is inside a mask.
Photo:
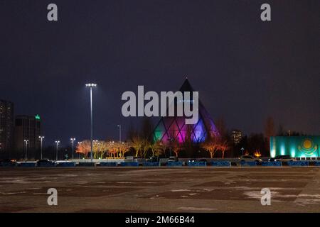
[{"label": "row of bare trees lit warm orange along the square", "polygon": [[[224,132],[224,123],[221,121],[218,123],[219,130]],[[176,157],[179,156],[182,150],[193,149],[193,142],[191,141],[191,127],[188,127],[186,131],[186,138],[183,143],[173,135],[170,136],[168,143],[162,143],[159,140],[154,141],[152,136],[152,130],[154,126],[152,125],[149,118],[144,118],[142,121],[141,131],[137,131],[133,126],[130,126],[128,133],[127,142],[115,142],[115,141],[95,141],[93,143],[93,156],[94,158],[104,158],[104,157],[124,157],[126,153],[132,151],[134,157],[149,157],[149,156],[160,156],[164,155],[166,151],[172,151]],[[225,152],[229,150],[227,143],[227,138],[225,136],[220,137],[210,137],[207,138],[203,143],[198,144],[198,148],[206,150],[210,153],[210,157],[214,157],[217,152],[222,153],[222,157],[225,156]],[[87,157],[90,153],[90,140],[84,140],[78,143],[76,148],[77,153],[81,153],[84,157]],[[191,154],[190,154],[191,155]]]}]

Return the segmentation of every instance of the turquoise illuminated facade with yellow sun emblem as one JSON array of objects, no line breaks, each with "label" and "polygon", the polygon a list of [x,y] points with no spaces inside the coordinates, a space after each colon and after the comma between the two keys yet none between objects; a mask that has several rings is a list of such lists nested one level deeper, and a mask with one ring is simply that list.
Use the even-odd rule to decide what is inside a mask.
[{"label": "turquoise illuminated facade with yellow sun emblem", "polygon": [[319,157],[320,136],[272,136],[270,156]]}]

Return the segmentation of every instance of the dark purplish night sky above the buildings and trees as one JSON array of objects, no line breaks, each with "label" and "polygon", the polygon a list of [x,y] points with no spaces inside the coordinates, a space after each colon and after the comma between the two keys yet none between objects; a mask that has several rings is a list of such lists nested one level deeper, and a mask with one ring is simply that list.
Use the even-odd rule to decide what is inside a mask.
[{"label": "dark purplish night sky above the buildings and trees", "polygon": [[[47,6],[58,5],[58,22]],[[272,21],[260,20],[260,6]],[[176,91],[186,75],[213,119],[245,133],[267,116],[320,133],[320,1],[0,1],[0,99],[40,114],[49,145],[125,135],[121,95]],[[156,121],[156,119],[154,119]]]}]

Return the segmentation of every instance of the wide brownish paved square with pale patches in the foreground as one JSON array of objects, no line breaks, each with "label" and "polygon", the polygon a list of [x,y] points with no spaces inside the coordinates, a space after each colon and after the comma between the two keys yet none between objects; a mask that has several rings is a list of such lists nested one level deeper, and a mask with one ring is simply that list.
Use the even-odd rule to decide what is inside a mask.
[{"label": "wide brownish paved square with pale patches in the foreground", "polygon": [[0,211],[320,212],[319,181],[319,167],[2,167]]}]

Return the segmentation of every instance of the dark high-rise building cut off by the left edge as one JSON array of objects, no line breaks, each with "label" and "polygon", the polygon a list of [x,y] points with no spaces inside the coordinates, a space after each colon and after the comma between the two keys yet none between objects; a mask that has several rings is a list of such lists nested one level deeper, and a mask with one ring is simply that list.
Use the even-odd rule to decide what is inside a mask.
[{"label": "dark high-rise building cut off by the left edge", "polygon": [[14,143],[14,104],[0,99],[0,152],[10,152]]}]

